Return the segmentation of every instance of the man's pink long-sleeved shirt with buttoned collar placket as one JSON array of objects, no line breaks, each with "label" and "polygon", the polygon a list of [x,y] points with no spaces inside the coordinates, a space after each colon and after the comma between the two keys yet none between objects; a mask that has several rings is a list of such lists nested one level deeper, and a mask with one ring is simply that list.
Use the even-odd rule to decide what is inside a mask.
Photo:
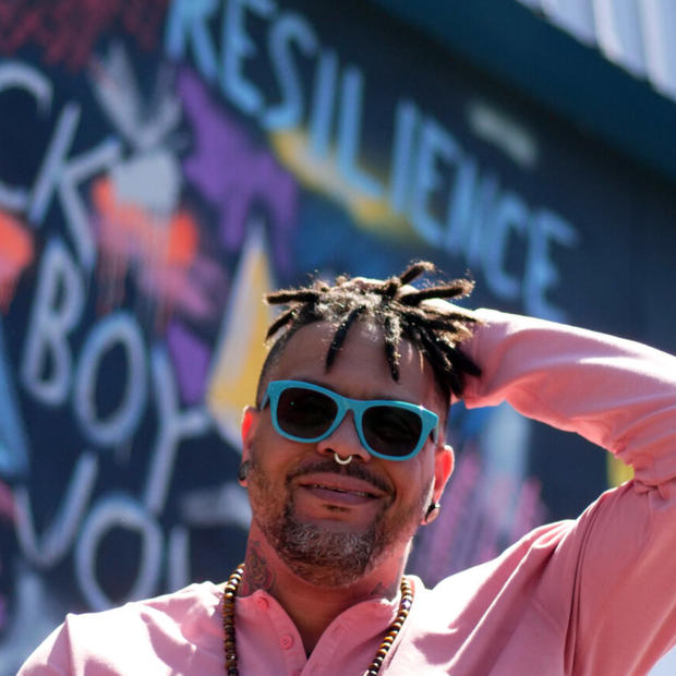
[{"label": "man's pink long-sleeved shirt with buttoned collar placket", "polygon": [[[577,520],[536,529],[433,590],[412,578],[413,606],[383,673],[644,674],[676,642],[676,358],[551,323],[482,316],[488,326],[471,351],[483,375],[471,381],[468,406],[508,400],[617,454],[636,479]],[[20,675],[220,676],[220,595],[205,582],[69,615]],[[398,599],[352,606],[307,657],[274,597],[257,591],[238,599],[240,673],[362,675],[397,607]]]}]

